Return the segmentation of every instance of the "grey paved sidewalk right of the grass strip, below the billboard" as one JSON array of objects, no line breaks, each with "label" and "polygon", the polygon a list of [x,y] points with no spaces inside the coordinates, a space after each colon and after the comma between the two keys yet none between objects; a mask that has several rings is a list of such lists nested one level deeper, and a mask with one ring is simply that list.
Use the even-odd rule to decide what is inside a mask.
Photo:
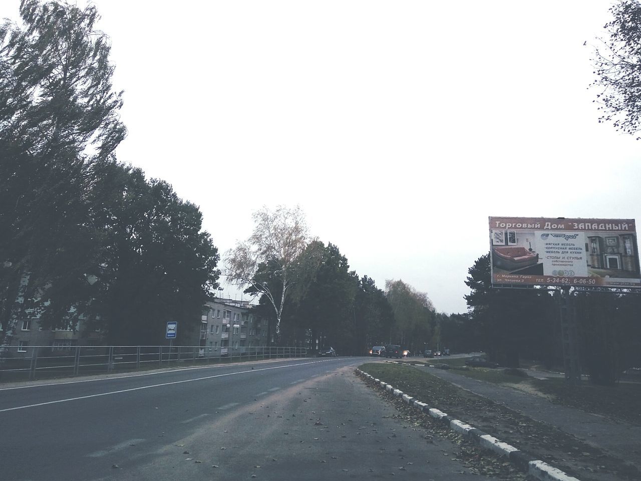
[{"label": "grey paved sidewalk right of the grass strip, below the billboard", "polygon": [[614,457],[626,460],[641,470],[641,426],[554,404],[535,394],[468,378],[451,371],[433,367],[415,367],[427,370],[430,374],[478,396],[516,410],[528,418],[555,426]]}]

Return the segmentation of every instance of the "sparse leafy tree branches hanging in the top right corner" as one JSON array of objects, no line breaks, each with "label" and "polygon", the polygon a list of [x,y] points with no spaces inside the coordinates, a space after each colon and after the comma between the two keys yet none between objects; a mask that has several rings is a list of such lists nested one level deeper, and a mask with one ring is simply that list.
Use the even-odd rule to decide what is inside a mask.
[{"label": "sparse leafy tree branches hanging in the top right corner", "polygon": [[599,38],[592,58],[592,87],[600,90],[595,102],[603,111],[599,122],[611,121],[617,131],[635,135],[641,129],[641,3],[619,1],[610,12],[614,18],[603,27],[610,35]]}]

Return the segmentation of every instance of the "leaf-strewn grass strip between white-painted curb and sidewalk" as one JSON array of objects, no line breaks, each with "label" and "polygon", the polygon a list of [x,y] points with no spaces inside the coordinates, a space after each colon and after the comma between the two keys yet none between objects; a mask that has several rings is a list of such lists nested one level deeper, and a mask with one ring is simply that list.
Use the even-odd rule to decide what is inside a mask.
[{"label": "leaf-strewn grass strip between white-painted curb and sidewalk", "polygon": [[624,460],[414,367],[377,362],[360,369],[582,481],[606,480],[612,475],[622,480],[639,479],[638,470]]}]

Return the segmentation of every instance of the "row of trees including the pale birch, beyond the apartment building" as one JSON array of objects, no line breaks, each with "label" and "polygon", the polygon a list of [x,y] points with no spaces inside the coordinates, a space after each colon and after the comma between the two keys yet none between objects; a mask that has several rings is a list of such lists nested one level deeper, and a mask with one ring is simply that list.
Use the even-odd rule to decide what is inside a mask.
[{"label": "row of trees including the pale birch, beyond the apartment building", "polygon": [[310,239],[298,207],[253,217],[254,232],[227,253],[225,274],[260,297],[257,309],[273,320],[278,342],[353,354],[390,342],[415,352],[438,344],[440,319],[427,294],[401,280],[383,291],[351,271],[338,246]]}]

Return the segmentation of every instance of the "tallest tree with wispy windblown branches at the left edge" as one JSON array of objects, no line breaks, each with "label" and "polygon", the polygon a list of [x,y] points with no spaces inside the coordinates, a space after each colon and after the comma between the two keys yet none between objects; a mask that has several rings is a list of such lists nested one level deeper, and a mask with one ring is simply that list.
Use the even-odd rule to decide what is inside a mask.
[{"label": "tallest tree with wispy windblown branches at the left edge", "polygon": [[19,11],[23,26],[0,28],[3,344],[26,300],[52,285],[69,292],[95,263],[92,165],[108,162],[126,135],[96,8],[22,0]]}]

